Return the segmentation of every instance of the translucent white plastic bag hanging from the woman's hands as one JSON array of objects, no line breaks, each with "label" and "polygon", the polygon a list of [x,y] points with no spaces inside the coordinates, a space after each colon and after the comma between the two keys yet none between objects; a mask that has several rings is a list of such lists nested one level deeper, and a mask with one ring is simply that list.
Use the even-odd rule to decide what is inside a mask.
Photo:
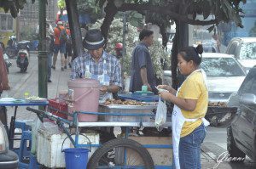
[{"label": "translucent white plastic bag hanging from the woman's hands", "polygon": [[167,113],[167,106],[166,101],[162,101],[159,97],[157,109],[156,109],[156,115],[155,115],[155,127],[160,130],[160,127],[166,123],[166,113]]}]

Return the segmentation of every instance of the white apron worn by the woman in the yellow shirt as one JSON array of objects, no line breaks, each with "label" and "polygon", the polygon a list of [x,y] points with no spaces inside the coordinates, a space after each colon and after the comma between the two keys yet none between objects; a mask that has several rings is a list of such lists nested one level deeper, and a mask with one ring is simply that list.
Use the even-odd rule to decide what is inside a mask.
[{"label": "white apron worn by the woman in the yellow shirt", "polygon": [[[207,85],[207,76],[203,70],[195,70],[193,71],[189,76],[191,76],[194,72],[196,71],[201,71],[202,75],[204,77],[204,82]],[[189,76],[187,78],[189,78]],[[179,91],[180,87],[177,89],[177,93]],[[176,93],[176,96],[177,96]],[[177,107],[177,105],[174,105],[173,111],[172,111],[172,146],[173,146],[173,155],[174,155],[174,162],[175,162],[175,168],[180,169],[179,166],[179,157],[178,157],[178,145],[179,145],[179,140],[180,140],[180,133],[182,131],[183,123],[185,121],[188,122],[195,122],[198,119],[186,119],[182,111]],[[207,127],[209,126],[209,121],[207,121],[205,118],[201,119],[204,123],[204,126]]]}]

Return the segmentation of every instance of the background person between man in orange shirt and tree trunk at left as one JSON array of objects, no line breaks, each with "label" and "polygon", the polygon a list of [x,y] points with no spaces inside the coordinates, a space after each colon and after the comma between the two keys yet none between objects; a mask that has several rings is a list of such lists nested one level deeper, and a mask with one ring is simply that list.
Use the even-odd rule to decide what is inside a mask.
[{"label": "background person between man in orange shirt and tree trunk at left", "polygon": [[69,68],[71,68],[71,60],[72,60],[72,40],[71,40],[71,33],[69,29],[69,24],[66,25],[66,31],[67,31],[67,42],[66,42],[66,53],[65,55],[65,65],[64,69],[67,69],[67,64]]}]

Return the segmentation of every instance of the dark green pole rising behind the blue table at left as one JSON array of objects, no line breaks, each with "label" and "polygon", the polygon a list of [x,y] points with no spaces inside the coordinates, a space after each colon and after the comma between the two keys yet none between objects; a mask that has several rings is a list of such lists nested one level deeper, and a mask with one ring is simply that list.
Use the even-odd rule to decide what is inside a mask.
[{"label": "dark green pole rising behind the blue table at left", "polygon": [[38,96],[42,98],[47,98],[46,3],[39,1]]}]

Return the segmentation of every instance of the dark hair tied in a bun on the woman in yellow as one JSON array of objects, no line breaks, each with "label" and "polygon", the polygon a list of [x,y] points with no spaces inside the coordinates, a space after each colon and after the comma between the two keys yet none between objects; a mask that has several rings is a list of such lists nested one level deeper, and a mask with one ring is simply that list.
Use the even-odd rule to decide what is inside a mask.
[{"label": "dark hair tied in a bun on the woman in yellow", "polygon": [[201,55],[203,53],[203,47],[201,44],[199,44],[196,48],[194,47],[186,47],[179,51],[178,54],[182,55],[183,59],[189,62],[190,60],[193,60],[196,65],[201,64]]}]

